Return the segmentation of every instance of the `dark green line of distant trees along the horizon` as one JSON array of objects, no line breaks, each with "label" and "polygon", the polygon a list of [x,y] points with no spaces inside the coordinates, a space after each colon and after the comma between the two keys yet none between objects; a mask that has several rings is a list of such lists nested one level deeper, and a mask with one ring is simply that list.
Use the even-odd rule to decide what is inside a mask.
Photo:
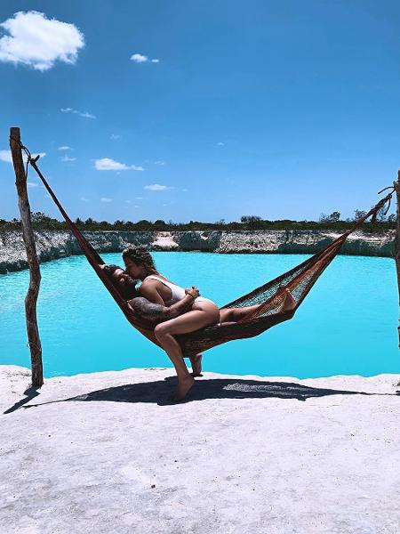
[{"label": "dark green line of distant trees along the horizon", "polygon": [[[194,231],[194,230],[336,230],[345,231],[351,228],[354,223],[362,218],[366,212],[356,209],[352,218],[340,219],[340,212],[334,211],[332,214],[320,214],[318,221],[292,221],[282,219],[269,221],[262,219],[258,215],[243,215],[240,223],[233,221],[227,223],[225,219],[220,219],[215,223],[201,223],[190,221],[189,223],[165,222],[163,219],[148,221],[142,219],[133,223],[132,221],[116,220],[114,223],[108,221],[94,221],[91,217],[85,221],[79,217],[76,219],[76,226],[81,231]],[[43,212],[32,213],[32,224],[36,230],[68,230],[68,224],[58,219],[53,219]],[[0,219],[0,230],[16,230],[20,228],[20,220],[12,219],[5,221]],[[386,231],[396,228],[396,214],[386,215],[382,210],[378,213],[375,223],[364,223],[364,231]]]}]

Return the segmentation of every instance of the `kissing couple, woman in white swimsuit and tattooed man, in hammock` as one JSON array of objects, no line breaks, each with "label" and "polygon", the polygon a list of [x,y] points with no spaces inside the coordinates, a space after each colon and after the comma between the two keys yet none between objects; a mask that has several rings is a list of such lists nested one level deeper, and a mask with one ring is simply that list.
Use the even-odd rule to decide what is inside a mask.
[{"label": "kissing couple, woman in white swimsuit and tattooed man, in hammock", "polygon": [[[190,374],[175,336],[217,323],[236,322],[256,311],[259,305],[219,310],[212,300],[200,296],[196,287],[185,289],[165,278],[156,270],[152,256],[143,248],[125,248],[123,260],[125,270],[116,265],[101,267],[133,311],[155,324],[156,339],[172,360],[178,376],[173,398],[182,401],[193,386],[194,377],[200,376],[201,354],[190,358],[193,371]],[[139,280],[141,285],[137,289]]]}]

